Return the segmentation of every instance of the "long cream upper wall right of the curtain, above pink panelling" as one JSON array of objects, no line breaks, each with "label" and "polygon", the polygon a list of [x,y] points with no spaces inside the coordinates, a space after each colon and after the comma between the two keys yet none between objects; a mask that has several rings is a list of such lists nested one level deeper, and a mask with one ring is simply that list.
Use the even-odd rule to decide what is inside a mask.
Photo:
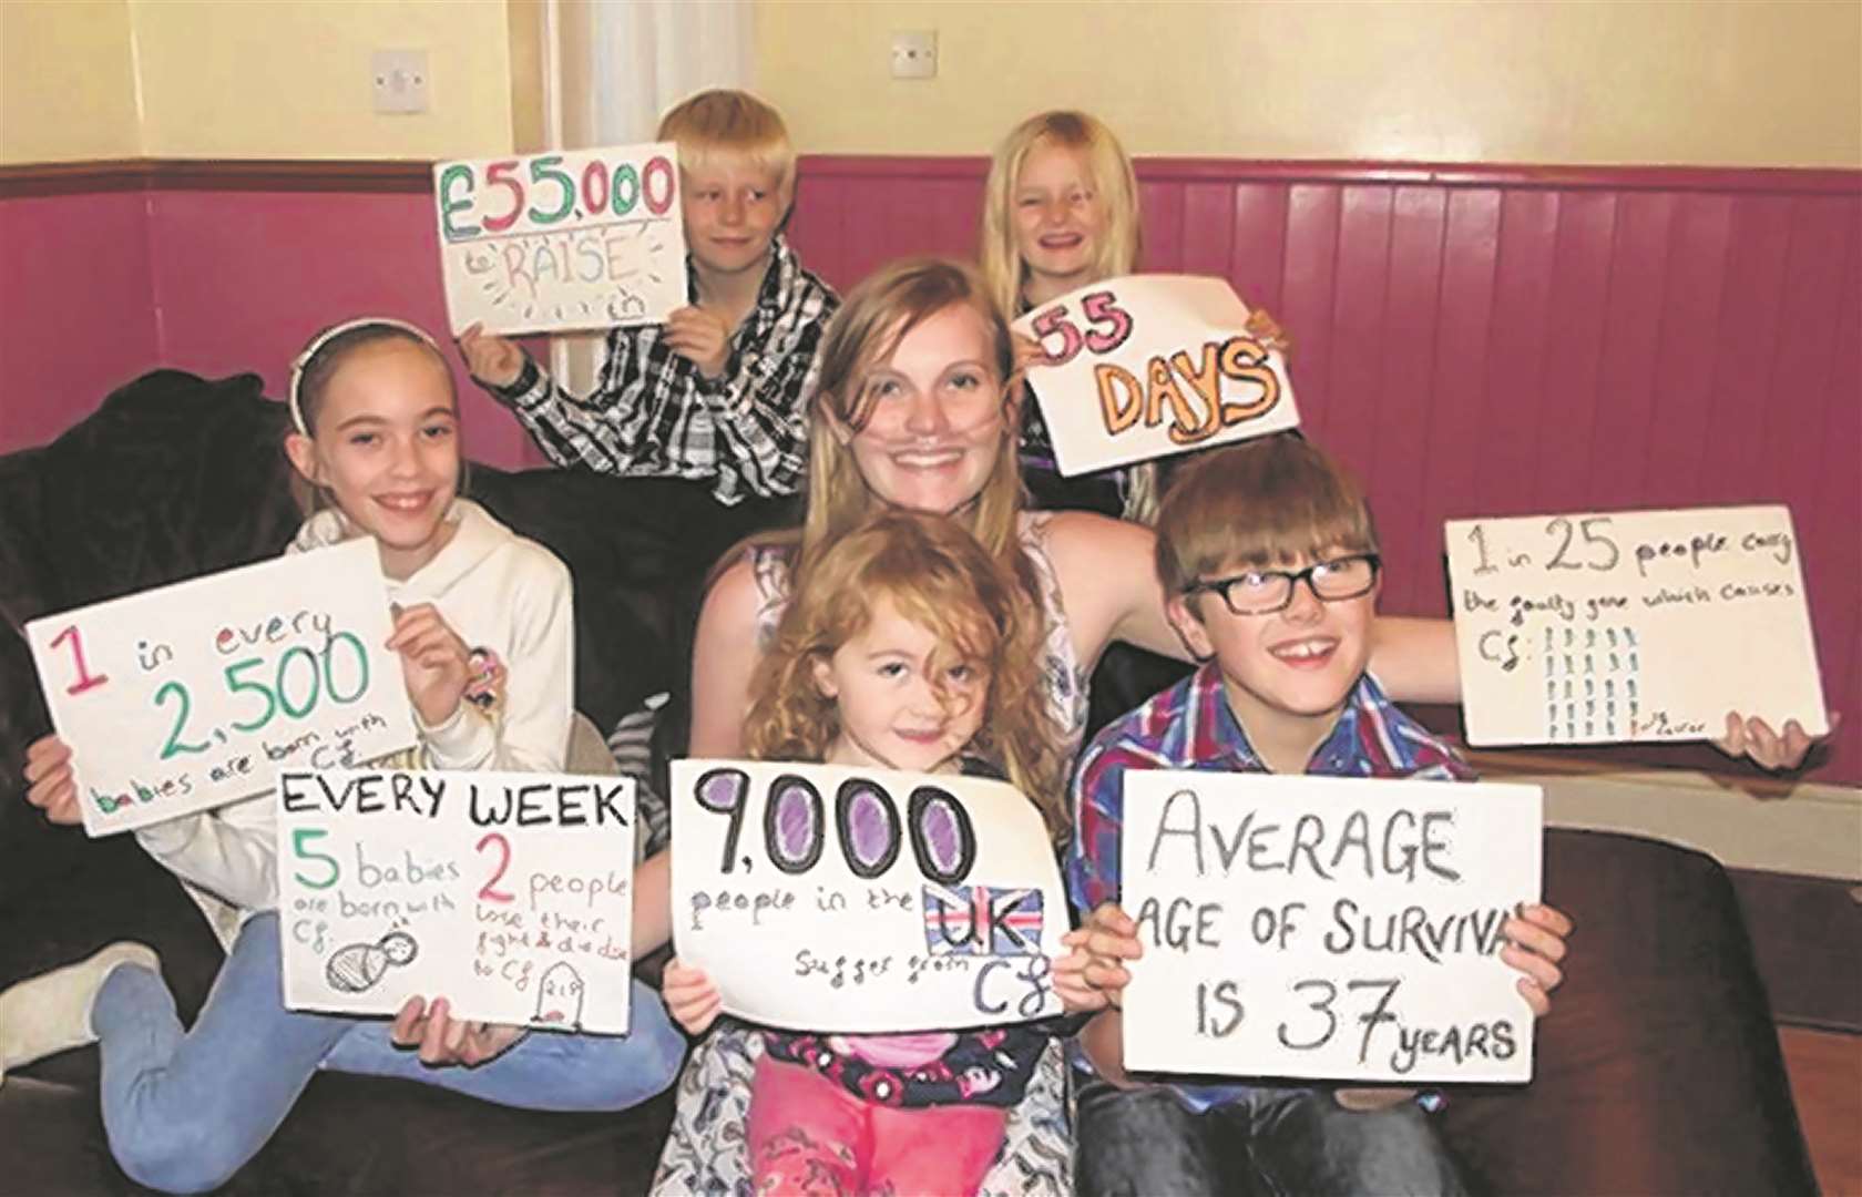
[{"label": "long cream upper wall right of the curtain, above pink panelling", "polygon": [[[985,153],[1086,108],[1140,155],[1862,166],[1856,0],[758,0],[814,153]],[[888,76],[937,30],[938,78]]]}]

